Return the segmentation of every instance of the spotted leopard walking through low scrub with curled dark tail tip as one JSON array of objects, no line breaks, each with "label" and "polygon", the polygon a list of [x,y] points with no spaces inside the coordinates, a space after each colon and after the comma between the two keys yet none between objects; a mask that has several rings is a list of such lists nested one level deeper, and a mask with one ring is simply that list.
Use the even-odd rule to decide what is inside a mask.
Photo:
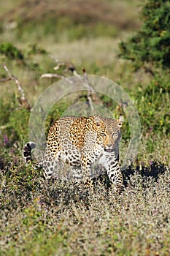
[{"label": "spotted leopard walking through low scrub with curled dark tail tip", "polygon": [[[123,174],[119,162],[119,142],[123,116],[118,119],[103,116],[64,116],[50,127],[45,154],[39,161],[45,179],[53,176],[58,162],[69,164],[74,178],[93,180],[92,166],[98,162],[106,170],[115,191],[123,188]],[[23,148],[25,162],[32,161],[35,143]]]}]

